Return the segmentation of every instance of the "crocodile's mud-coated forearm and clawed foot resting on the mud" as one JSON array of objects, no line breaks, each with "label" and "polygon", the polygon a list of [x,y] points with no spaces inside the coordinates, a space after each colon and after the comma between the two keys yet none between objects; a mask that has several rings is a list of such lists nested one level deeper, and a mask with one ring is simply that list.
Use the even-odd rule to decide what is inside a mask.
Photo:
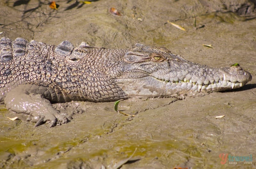
[{"label": "crocodile's mud-coated forearm and clawed foot resting on the mud", "polygon": [[7,93],[4,103],[9,111],[29,115],[27,120],[35,122],[35,126],[46,123],[53,127],[69,121],[65,113],[56,110],[42,95],[28,93],[21,87]]}]

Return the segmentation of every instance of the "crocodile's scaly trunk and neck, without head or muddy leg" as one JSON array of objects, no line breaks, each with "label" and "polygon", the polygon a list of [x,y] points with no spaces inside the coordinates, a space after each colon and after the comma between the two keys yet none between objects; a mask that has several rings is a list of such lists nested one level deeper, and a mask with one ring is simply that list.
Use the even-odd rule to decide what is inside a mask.
[{"label": "crocodile's scaly trunk and neck, without head or muddy leg", "polygon": [[[126,50],[125,50],[126,51]],[[0,102],[5,94],[21,84],[47,87],[56,93],[57,101],[114,101],[127,98],[106,74],[108,66],[103,56],[117,55],[123,50],[79,47],[63,41],[59,45],[16,38],[0,40]],[[106,66],[106,64],[108,66]],[[106,68],[107,67],[107,68]],[[117,66],[115,66],[117,67]]]}]

